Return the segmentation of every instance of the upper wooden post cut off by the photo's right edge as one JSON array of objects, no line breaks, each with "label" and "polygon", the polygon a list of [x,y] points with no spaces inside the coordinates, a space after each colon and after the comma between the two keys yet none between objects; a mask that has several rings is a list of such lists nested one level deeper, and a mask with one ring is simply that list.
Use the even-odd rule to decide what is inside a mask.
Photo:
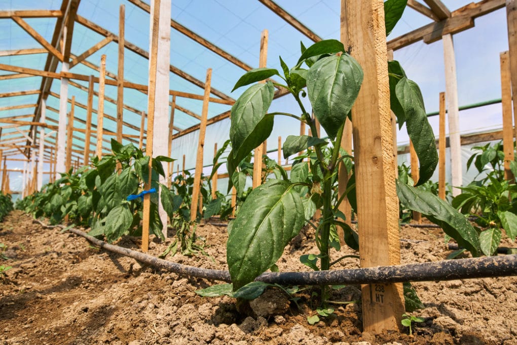
[{"label": "upper wooden post cut off by the photo's right edge", "polygon": [[517,138],[517,0],[506,0],[506,22],[508,25],[508,51],[512,83],[513,117],[515,138]]}]

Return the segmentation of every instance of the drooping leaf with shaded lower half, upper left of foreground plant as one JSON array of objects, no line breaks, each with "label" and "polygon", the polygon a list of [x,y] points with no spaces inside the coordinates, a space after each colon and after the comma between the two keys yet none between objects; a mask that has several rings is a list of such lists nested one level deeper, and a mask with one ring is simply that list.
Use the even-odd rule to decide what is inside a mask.
[{"label": "drooping leaf with shaded lower half, upper left of foreground plant", "polygon": [[[235,168],[255,147],[269,137],[273,117],[265,117],[275,95],[273,83],[255,84],[235,102],[231,111],[230,139]],[[233,171],[229,171],[230,174]]]}]

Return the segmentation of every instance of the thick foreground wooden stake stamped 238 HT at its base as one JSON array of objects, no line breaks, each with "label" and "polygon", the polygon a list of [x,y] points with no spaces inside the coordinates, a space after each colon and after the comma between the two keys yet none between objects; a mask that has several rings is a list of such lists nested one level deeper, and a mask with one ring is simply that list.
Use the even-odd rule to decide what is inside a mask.
[{"label": "thick foreground wooden stake stamped 238 HT at its base", "polygon": [[[394,183],[384,6],[380,0],[342,4],[347,47],[364,71],[352,109],[360,264],[396,265],[400,263],[399,203]],[[361,290],[364,332],[400,329],[402,284],[368,284]]]}]

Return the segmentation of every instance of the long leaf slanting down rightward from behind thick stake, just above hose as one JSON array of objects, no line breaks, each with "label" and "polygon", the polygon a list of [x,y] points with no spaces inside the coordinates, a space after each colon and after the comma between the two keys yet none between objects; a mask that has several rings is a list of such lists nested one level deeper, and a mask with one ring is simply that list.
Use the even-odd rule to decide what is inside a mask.
[{"label": "long leaf slanting down rightward from behind thick stake, just above hose", "polygon": [[412,211],[420,212],[427,219],[438,224],[447,235],[458,242],[458,245],[469,250],[473,256],[478,256],[480,248],[478,233],[464,215],[433,193],[399,181],[397,181],[397,194],[402,205]]}]

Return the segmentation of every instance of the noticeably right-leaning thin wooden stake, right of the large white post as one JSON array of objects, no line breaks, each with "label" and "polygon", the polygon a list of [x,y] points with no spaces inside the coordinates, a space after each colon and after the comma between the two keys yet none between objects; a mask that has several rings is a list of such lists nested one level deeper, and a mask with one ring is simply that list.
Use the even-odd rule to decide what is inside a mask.
[{"label": "noticeably right-leaning thin wooden stake, right of the large white post", "polygon": [[210,97],[210,83],[212,80],[212,69],[206,71],[205,94],[203,98],[203,110],[201,112],[201,126],[199,128],[199,140],[197,142],[197,156],[194,171],[194,187],[192,191],[192,204],[190,205],[190,220],[194,221],[197,216],[196,208],[199,202],[201,173],[203,172],[203,147],[205,146],[206,120],[208,117],[208,99]]}]

